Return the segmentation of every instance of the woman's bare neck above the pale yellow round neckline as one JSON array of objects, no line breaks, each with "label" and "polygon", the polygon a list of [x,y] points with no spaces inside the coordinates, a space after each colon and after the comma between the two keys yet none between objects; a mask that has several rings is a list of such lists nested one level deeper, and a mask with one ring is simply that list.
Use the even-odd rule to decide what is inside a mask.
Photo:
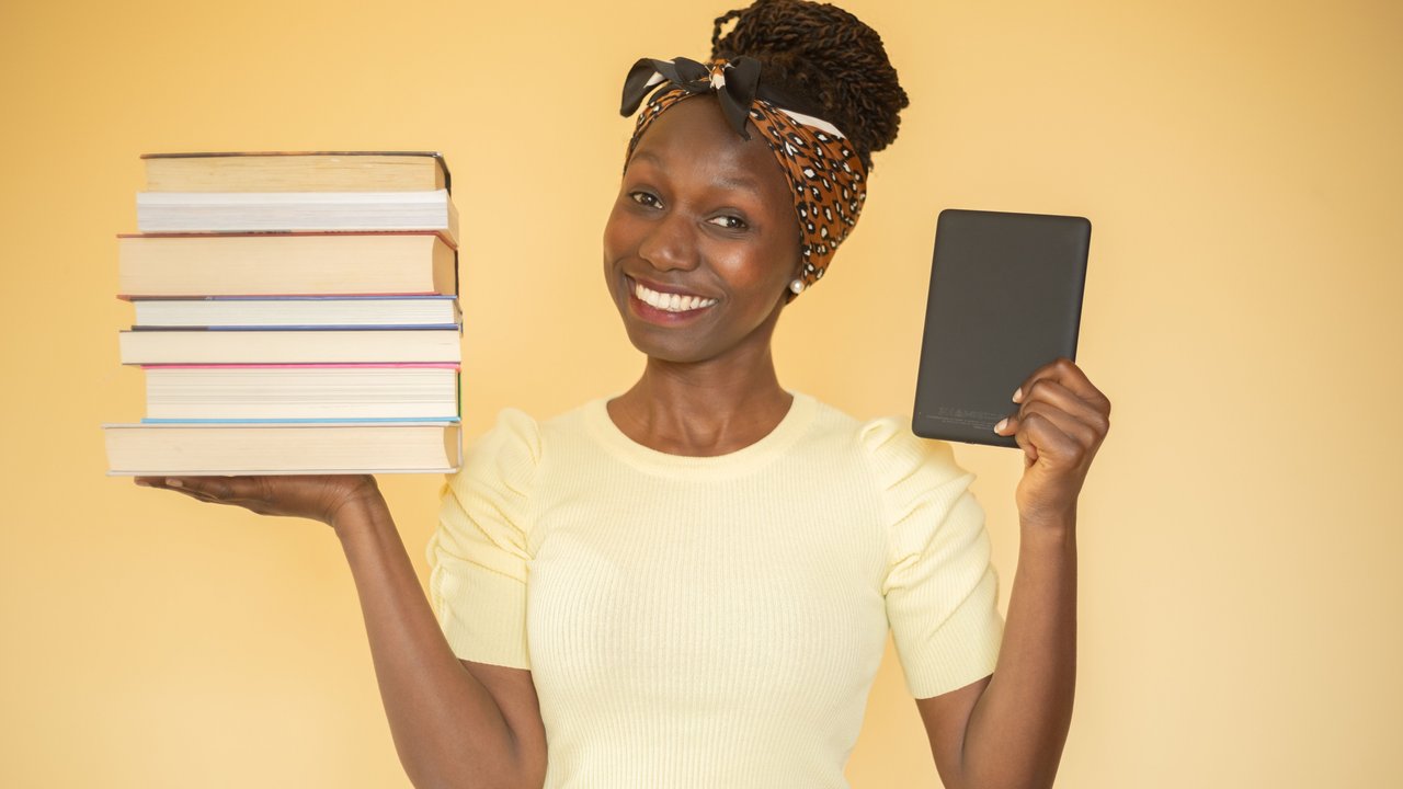
[{"label": "woman's bare neck above the pale yellow round neckline", "polygon": [[644,446],[709,458],[769,435],[793,400],[766,347],[762,358],[742,365],[650,358],[638,382],[609,402],[609,417]]}]

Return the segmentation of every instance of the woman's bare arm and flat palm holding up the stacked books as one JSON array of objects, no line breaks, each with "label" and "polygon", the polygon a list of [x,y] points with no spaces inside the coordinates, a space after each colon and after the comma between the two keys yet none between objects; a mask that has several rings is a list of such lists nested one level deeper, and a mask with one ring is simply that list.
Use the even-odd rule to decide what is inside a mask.
[{"label": "woman's bare arm and flat palm holding up the stacked books", "polygon": [[546,731],[530,671],[460,661],[373,477],[139,479],[202,501],[333,526],[351,564],[400,761],[421,788],[539,788]]}]

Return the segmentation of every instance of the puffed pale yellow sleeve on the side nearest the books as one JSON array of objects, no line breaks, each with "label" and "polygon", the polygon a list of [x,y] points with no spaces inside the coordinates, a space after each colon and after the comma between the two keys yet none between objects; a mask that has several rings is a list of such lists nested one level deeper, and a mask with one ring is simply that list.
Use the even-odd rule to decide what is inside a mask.
[{"label": "puffed pale yellow sleeve on the side nearest the books", "polygon": [[462,660],[530,668],[526,563],[540,431],[508,409],[448,477],[428,545],[429,599]]}]

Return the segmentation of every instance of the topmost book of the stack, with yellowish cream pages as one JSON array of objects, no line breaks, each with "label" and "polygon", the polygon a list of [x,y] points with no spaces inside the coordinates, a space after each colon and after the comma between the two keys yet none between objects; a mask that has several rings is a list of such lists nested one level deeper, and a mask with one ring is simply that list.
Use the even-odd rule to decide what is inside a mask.
[{"label": "topmost book of the stack, with yellowish cream pages", "polygon": [[147,153],[149,192],[342,192],[449,190],[432,152],[311,150]]}]

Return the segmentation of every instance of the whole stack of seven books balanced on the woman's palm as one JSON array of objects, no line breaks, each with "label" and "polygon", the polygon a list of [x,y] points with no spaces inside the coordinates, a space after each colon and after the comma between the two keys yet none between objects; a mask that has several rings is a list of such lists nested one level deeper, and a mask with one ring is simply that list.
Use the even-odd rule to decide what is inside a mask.
[{"label": "whole stack of seven books balanced on the woman's palm", "polygon": [[146,418],[102,425],[111,475],[457,469],[457,212],[441,156],[142,159],[118,288]]}]

